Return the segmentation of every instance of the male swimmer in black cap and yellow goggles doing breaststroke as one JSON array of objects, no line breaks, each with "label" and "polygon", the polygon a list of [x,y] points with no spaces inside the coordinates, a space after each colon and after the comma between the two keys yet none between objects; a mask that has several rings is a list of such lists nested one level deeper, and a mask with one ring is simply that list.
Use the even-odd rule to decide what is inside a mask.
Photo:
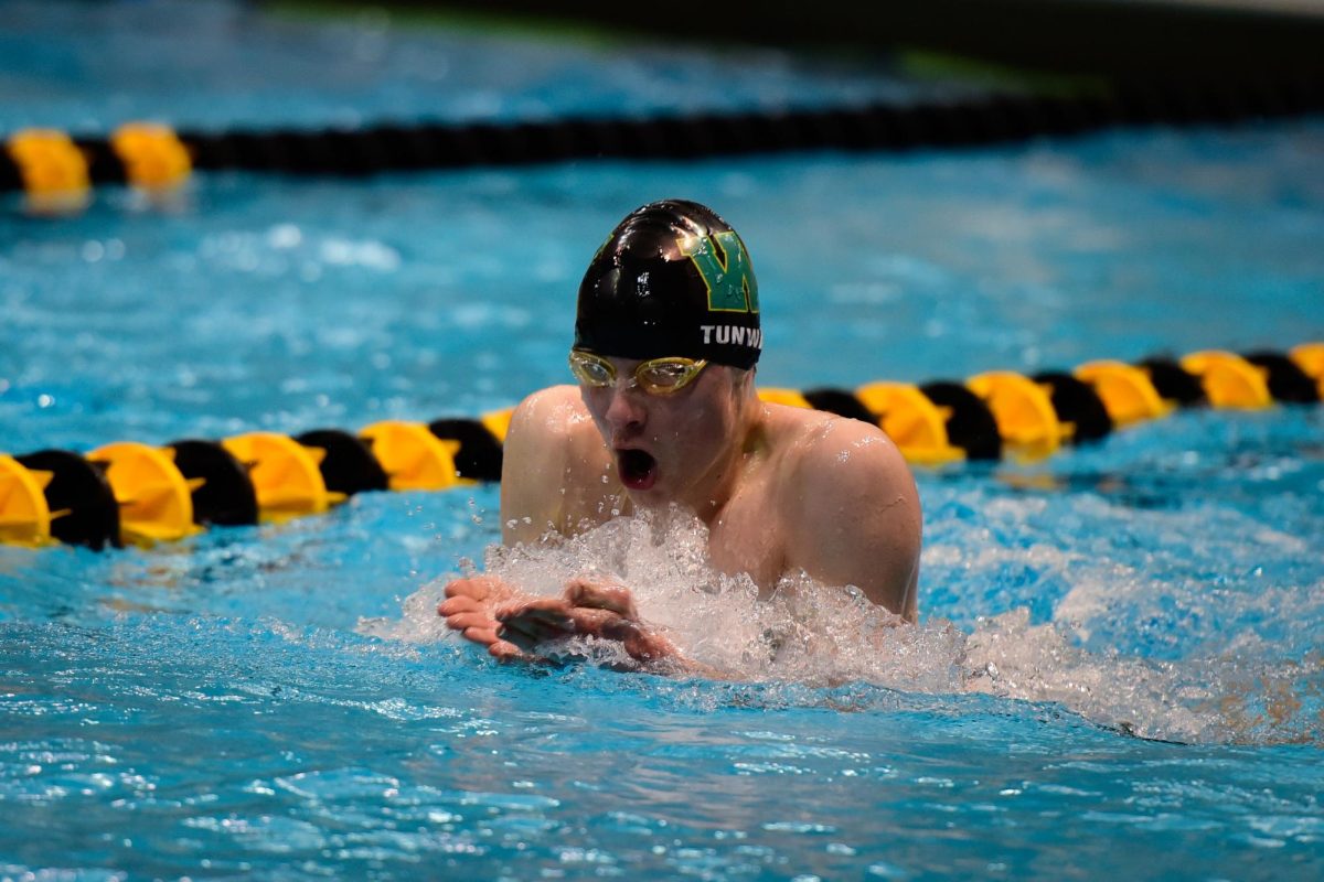
[{"label": "male swimmer in black cap and yellow goggles doing breaststroke", "polygon": [[[759,286],[735,230],[695,202],[629,214],[580,284],[579,385],[534,393],[511,419],[503,543],[679,505],[707,525],[712,565],[761,594],[802,573],[914,621],[922,517],[906,461],[876,426],[761,402],[761,346]],[[448,584],[438,614],[502,660],[593,636],[643,665],[686,666],[628,586],[575,579],[534,598],[477,575]]]}]

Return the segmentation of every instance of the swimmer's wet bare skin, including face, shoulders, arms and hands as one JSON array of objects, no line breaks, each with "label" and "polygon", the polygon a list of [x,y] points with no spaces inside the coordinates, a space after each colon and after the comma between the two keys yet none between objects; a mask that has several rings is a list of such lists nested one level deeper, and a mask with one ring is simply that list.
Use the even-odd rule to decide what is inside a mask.
[{"label": "swimmer's wet bare skin, including face, shoulders, arms and hands", "polygon": [[[637,361],[610,361],[614,385],[553,386],[516,409],[502,475],[506,545],[675,502],[708,526],[723,573],[747,573],[764,591],[798,573],[854,584],[915,620],[919,497],[882,431],[765,405],[752,373],[712,365],[673,395],[649,395],[633,383]],[[645,666],[678,659],[639,619],[629,588],[612,583],[575,579],[561,596],[530,598],[470,577],[446,586],[438,614],[503,660],[572,635],[618,640]]]}]

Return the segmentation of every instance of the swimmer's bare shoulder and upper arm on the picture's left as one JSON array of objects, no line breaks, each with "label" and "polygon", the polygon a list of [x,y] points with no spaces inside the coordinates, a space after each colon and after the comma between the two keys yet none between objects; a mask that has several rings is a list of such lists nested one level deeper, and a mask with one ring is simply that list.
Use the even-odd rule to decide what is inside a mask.
[{"label": "swimmer's bare shoulder and upper arm on the picture's left", "polygon": [[515,409],[500,477],[502,543],[539,542],[564,526],[571,419],[579,390],[552,386]]}]

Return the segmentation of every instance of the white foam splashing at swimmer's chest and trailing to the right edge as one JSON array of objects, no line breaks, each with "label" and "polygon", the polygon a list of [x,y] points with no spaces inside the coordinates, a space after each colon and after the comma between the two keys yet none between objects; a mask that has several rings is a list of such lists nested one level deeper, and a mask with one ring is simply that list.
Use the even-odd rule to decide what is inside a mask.
[{"label": "white foam splashing at swimmer's chest and trailing to the right edge", "polygon": [[[1320,741],[1312,726],[1324,684],[1320,660],[1234,653],[1160,660],[1083,647],[1082,621],[1143,590],[1143,577],[1125,567],[1087,570],[1057,620],[1031,623],[1029,610],[1014,608],[977,619],[967,633],[943,619],[908,624],[857,588],[828,588],[804,575],[760,596],[747,575],[712,569],[707,541],[703,524],[678,510],[643,513],[560,543],[493,546],[483,569],[544,596],[559,595],[573,578],[628,584],[651,627],[686,657],[732,680],[822,689],[866,682],[1055,702],[1127,734],[1181,742]],[[406,598],[400,621],[364,621],[360,632],[409,643],[455,640],[436,614],[446,581]],[[1110,584],[1120,596],[1104,603]],[[614,644],[593,640],[551,652],[604,665],[628,661]]]}]

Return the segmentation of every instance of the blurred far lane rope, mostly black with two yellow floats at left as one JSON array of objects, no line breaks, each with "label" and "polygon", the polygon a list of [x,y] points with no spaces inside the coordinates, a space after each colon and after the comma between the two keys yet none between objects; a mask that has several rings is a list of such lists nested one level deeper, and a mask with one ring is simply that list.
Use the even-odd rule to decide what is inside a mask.
[{"label": "blurred far lane rope, mostly black with two yellow floats at left", "polygon": [[569,116],[532,122],[384,122],[354,128],[175,131],[130,122],[107,138],[23,130],[4,139],[0,193],[36,213],[86,206],[91,188],[168,192],[193,171],[361,177],[383,172],[591,159],[694,160],[790,151],[911,151],[1010,144],[1117,127],[1231,124],[1324,111],[1324,82],[1108,83],[1071,94],[997,91],[838,107]]}]

